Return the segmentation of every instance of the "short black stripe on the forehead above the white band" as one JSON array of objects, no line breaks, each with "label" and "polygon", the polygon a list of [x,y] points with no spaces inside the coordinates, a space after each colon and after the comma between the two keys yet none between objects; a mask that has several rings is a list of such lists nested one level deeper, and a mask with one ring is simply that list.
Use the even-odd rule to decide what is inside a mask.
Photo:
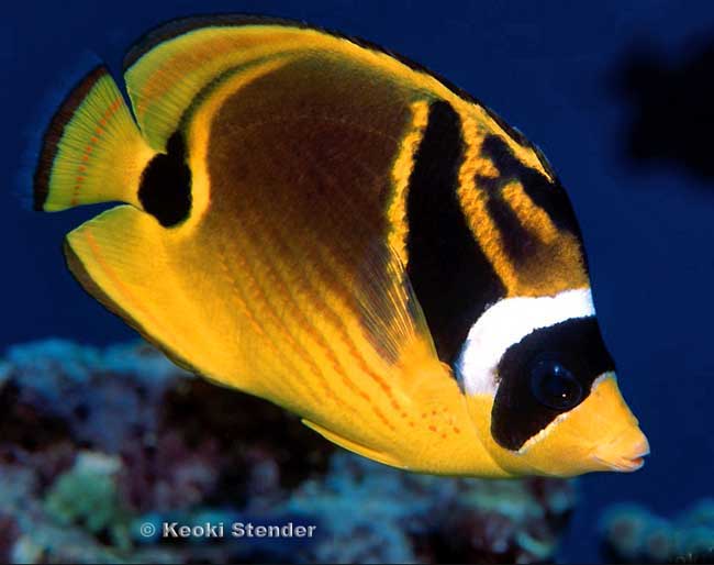
[{"label": "short black stripe on the forehead above the white band", "polygon": [[511,180],[521,181],[528,198],[548,214],[556,228],[581,236],[570,199],[557,178],[554,177],[555,181],[551,182],[540,171],[521,163],[498,135],[489,135],[483,140],[481,154],[499,169],[502,186]]}]

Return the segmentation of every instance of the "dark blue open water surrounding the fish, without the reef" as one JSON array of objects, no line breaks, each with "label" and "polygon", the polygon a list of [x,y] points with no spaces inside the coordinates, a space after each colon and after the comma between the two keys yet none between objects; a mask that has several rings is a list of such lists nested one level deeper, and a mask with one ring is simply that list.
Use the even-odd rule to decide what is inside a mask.
[{"label": "dark blue open water surrounding the fish, without the reef", "polygon": [[133,337],[64,266],[63,235],[96,210],[38,214],[16,197],[23,135],[36,133],[42,100],[82,53],[119,74],[124,51],[148,27],[215,11],[304,19],[402,53],[520,128],[559,173],[584,233],[605,341],[652,446],[642,472],[581,481],[566,560],[596,558],[593,530],[607,503],[674,512],[713,494],[714,186],[665,166],[629,166],[628,109],[607,88],[633,45],[677,57],[692,36],[714,34],[713,2],[12,2],[0,21],[0,345]]}]

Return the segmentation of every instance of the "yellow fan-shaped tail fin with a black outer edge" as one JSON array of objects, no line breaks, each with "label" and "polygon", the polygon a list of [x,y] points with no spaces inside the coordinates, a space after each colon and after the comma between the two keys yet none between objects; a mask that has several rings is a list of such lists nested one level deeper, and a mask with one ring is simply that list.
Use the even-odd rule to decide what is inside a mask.
[{"label": "yellow fan-shaped tail fin with a black outer edge", "polygon": [[116,82],[97,66],[71,90],[44,134],[34,175],[34,208],[54,212],[123,201],[138,207],[146,145]]}]

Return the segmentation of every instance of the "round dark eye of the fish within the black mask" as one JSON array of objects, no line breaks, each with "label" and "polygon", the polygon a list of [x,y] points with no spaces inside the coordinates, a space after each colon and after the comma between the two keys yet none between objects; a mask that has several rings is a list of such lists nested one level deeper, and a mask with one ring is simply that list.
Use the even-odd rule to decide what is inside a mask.
[{"label": "round dark eye of the fish within the black mask", "polygon": [[544,406],[555,410],[570,410],[583,398],[582,385],[559,361],[537,357],[531,365],[531,391]]}]

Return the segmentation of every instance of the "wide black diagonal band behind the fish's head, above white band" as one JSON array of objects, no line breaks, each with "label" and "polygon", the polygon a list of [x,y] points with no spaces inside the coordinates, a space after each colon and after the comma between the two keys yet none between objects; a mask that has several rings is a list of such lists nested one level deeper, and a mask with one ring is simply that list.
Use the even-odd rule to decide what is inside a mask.
[{"label": "wide black diagonal band behind the fish's head, above white band", "polygon": [[406,273],[445,363],[456,359],[473,321],[505,292],[459,203],[464,153],[458,113],[447,102],[432,103],[409,180]]}]

